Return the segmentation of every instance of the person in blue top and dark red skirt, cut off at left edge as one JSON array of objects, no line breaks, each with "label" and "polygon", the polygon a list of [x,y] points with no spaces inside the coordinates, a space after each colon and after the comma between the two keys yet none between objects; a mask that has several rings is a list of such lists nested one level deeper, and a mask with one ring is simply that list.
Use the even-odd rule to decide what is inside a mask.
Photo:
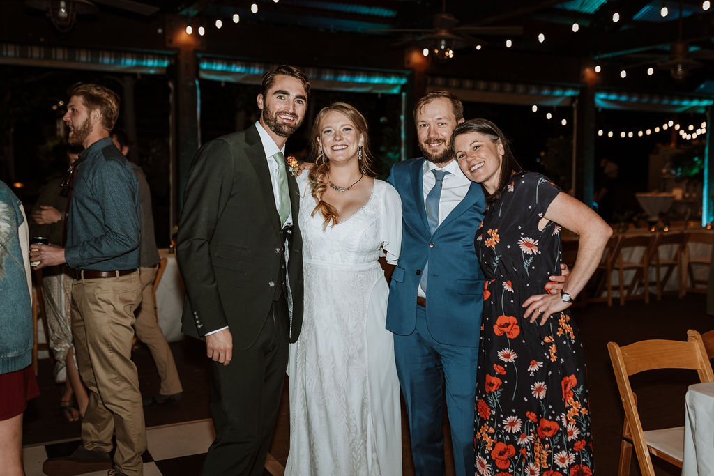
[{"label": "person in blue top and dark red skirt, cut off at left edge", "polygon": [[0,472],[24,476],[22,415],[39,395],[32,371],[29,233],[20,199],[0,181]]}]

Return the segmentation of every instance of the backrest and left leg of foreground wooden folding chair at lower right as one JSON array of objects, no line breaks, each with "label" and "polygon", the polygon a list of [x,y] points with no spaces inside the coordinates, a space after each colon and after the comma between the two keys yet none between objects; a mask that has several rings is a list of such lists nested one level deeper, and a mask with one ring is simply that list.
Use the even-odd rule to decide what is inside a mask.
[{"label": "backrest and left leg of foreground wooden folding chair at lower right", "polygon": [[[686,342],[678,340],[642,340],[620,347],[608,343],[610,362],[613,364],[620,399],[625,410],[625,432],[631,433],[640,471],[645,476],[655,476],[650,450],[637,410],[636,397],[630,387],[630,375],[655,369],[696,370],[701,382],[714,381],[714,371],[707,358],[700,335],[689,335]],[[683,402],[682,402],[683,403]]]}]

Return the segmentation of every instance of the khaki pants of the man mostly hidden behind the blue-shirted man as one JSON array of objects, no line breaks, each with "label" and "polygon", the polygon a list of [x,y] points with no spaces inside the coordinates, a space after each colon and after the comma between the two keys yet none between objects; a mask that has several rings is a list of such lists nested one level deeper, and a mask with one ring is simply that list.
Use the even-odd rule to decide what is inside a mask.
[{"label": "khaki pants of the man mostly hidden behind the blue-shirted man", "polygon": [[174,354],[171,353],[166,336],[156,320],[156,303],[154,302],[154,280],[157,268],[139,268],[141,278],[141,305],[136,313],[136,337],[145,343],[156,363],[156,370],[161,378],[161,395],[174,395],[183,392],[181,380],[178,380],[178,370]]}]

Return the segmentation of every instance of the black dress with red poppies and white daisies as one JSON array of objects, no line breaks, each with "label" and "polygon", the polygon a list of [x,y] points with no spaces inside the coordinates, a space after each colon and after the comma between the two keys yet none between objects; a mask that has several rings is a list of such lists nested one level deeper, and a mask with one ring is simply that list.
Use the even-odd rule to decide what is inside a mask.
[{"label": "black dress with red poppies and white daisies", "polygon": [[566,310],[545,325],[523,301],[560,274],[560,226],[538,222],[560,189],[513,176],[476,233],[486,275],[476,388],[476,474],[593,475],[585,355]]}]

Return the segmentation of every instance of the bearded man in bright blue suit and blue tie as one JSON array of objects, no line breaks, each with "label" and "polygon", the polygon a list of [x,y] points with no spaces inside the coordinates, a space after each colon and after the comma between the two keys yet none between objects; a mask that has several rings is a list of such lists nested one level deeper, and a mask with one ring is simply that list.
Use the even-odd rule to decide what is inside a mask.
[{"label": "bearded man in bright blue suit and blue tie", "polygon": [[[417,101],[423,157],[396,163],[388,181],[402,201],[403,232],[387,310],[406,400],[417,475],[445,472],[443,392],[456,475],[473,476],[473,400],[484,277],[473,238],[486,199],[453,158],[463,105],[448,91]],[[444,173],[446,172],[446,173]]]}]

